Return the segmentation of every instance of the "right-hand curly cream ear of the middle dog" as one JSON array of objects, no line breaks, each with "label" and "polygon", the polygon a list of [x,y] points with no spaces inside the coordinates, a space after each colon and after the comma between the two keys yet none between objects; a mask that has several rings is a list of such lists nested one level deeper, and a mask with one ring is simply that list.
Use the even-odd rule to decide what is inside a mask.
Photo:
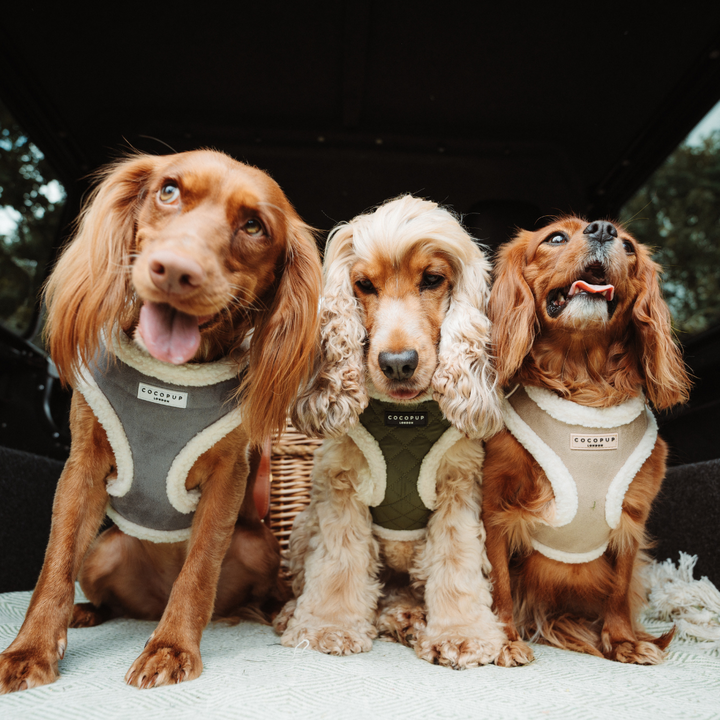
[{"label": "right-hand curly cream ear of the middle dog", "polygon": [[456,268],[432,386],[445,417],[469,437],[482,438],[502,428],[502,415],[485,314],[490,266],[477,248],[473,250]]}]

